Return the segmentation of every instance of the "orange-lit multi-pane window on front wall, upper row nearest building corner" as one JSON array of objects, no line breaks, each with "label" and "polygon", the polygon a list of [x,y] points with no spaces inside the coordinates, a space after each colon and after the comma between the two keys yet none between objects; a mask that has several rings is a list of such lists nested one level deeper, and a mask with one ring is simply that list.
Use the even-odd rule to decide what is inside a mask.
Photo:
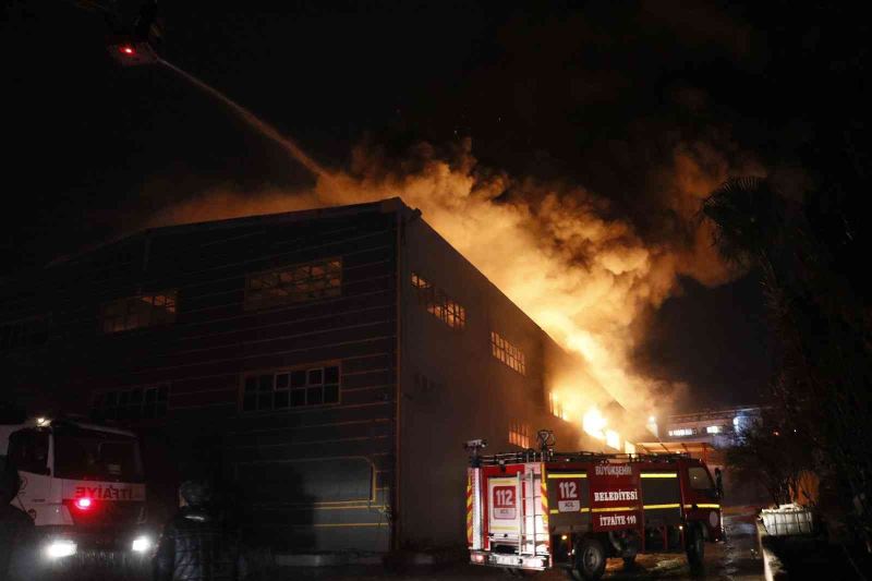
[{"label": "orange-lit multi-pane window on front wall, upper row nearest building corner", "polygon": [[254,273],[245,278],[245,308],[268,308],[339,296],[342,261],[326,258]]}]

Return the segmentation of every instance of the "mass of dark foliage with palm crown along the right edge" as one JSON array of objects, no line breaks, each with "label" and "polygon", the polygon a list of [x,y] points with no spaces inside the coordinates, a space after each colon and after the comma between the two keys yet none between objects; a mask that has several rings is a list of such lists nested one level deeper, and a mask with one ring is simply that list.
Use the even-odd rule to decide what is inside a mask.
[{"label": "mass of dark foliage with palm crown along the right edge", "polygon": [[[827,207],[827,218],[819,209]],[[868,293],[857,285],[850,258],[858,252],[832,181],[790,202],[766,181],[730,180],[704,202],[702,213],[715,225],[715,244],[729,261],[759,267],[771,325],[779,342],[777,377],[767,399],[773,415],[767,432],[790,426],[802,446],[775,450],[754,435],[735,452],[756,455],[770,473],[774,496],[789,480],[779,471],[801,465],[811,450],[815,471],[844,486],[843,512],[867,546],[872,538],[872,436],[865,428],[872,413],[872,336]],[[839,219],[843,215],[843,219]],[[841,230],[834,223],[844,225]],[[792,438],[792,436],[791,436]]]}]

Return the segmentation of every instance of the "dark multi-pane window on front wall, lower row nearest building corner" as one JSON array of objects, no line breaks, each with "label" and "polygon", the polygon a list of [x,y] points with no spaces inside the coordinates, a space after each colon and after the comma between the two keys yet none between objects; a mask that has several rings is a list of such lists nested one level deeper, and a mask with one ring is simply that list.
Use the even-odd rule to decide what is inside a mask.
[{"label": "dark multi-pane window on front wall, lower row nearest building corner", "polygon": [[242,411],[274,411],[339,403],[339,365],[246,375]]}]

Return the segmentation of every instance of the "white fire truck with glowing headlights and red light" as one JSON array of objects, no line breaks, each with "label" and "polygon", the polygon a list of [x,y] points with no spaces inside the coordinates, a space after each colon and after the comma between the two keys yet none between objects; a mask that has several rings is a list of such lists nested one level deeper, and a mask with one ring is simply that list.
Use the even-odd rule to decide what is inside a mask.
[{"label": "white fire truck with glowing headlights and red light", "polygon": [[0,425],[0,456],[19,470],[12,505],[34,519],[44,556],[144,555],[145,481],[132,432],[39,417]]}]

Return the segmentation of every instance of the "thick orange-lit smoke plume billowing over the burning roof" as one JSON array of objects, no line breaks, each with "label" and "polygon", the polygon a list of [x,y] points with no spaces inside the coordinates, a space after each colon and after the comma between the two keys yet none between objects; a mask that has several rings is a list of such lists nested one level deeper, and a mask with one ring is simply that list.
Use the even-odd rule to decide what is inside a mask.
[{"label": "thick orange-lit smoke plume billowing over the burning roof", "polygon": [[[679,289],[679,276],[719,285],[736,273],[717,257],[697,219],[699,202],[732,168],[704,144],[682,144],[662,168],[668,237],[642,240],[607,199],[583,187],[519,179],[481,167],[463,142],[449,154],[426,144],[402,160],[358,147],[351,167],[324,171],[308,191],[215,191],[170,207],[152,226],[334,206],[399,196],[566,349],[584,373],[549,386],[580,420],[585,394],[607,390],[638,415],[662,414],[685,386],[633,368],[652,310]],[[591,385],[595,384],[595,385]]]}]

